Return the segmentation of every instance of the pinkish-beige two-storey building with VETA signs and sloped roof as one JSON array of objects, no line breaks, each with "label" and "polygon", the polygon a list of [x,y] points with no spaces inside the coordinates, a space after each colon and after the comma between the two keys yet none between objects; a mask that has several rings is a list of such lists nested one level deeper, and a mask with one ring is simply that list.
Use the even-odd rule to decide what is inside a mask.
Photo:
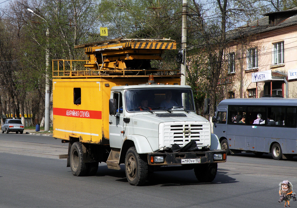
[{"label": "pinkish-beige two-storey building with VETA signs and sloped roof", "polygon": [[228,33],[225,98],[297,98],[297,7],[268,13]]}]

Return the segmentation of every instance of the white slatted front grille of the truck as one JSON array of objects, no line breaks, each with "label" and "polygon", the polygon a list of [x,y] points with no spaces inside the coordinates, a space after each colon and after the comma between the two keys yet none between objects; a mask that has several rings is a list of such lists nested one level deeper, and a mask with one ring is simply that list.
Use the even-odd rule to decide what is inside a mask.
[{"label": "white slatted front grille of the truck", "polygon": [[173,144],[184,146],[195,140],[198,147],[210,146],[208,122],[164,122],[159,125],[159,147],[170,148]]}]

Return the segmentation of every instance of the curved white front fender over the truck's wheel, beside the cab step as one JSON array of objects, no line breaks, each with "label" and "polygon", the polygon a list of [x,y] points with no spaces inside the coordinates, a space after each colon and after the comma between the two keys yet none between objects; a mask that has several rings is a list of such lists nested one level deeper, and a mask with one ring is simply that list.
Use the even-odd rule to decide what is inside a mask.
[{"label": "curved white front fender over the truck's wheel, beside the cab step", "polygon": [[151,145],[145,136],[137,134],[128,135],[124,139],[123,144],[126,140],[131,140],[134,142],[138,154],[153,152],[153,149],[151,148]]}]

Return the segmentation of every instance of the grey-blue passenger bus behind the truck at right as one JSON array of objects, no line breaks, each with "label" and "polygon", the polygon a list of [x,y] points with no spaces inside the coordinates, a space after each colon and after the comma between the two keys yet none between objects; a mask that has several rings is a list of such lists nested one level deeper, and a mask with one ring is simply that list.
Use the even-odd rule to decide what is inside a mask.
[{"label": "grey-blue passenger bus behind the truck at right", "polygon": [[228,153],[272,153],[274,160],[297,153],[297,99],[222,100],[212,118],[214,134]]}]

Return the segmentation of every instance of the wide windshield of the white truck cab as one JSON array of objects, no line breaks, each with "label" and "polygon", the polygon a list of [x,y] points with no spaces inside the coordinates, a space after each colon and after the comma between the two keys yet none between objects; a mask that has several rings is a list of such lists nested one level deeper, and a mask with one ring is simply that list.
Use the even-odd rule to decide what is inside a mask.
[{"label": "wide windshield of the white truck cab", "polygon": [[125,101],[129,112],[195,110],[190,89],[131,89],[126,91]]}]

